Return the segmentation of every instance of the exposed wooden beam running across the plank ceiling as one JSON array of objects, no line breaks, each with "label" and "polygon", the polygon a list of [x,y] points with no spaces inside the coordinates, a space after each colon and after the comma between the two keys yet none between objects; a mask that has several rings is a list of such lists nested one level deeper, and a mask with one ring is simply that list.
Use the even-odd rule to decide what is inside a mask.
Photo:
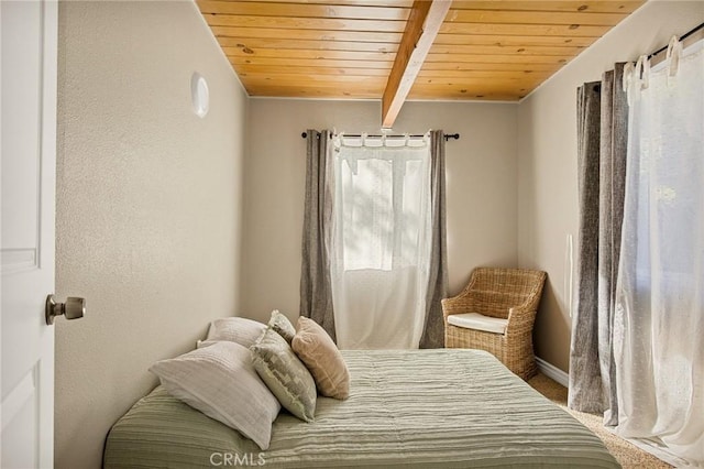
[{"label": "exposed wooden beam running across the plank ceiling", "polygon": [[382,128],[394,126],[451,3],[451,0],[414,1],[382,97]]}]

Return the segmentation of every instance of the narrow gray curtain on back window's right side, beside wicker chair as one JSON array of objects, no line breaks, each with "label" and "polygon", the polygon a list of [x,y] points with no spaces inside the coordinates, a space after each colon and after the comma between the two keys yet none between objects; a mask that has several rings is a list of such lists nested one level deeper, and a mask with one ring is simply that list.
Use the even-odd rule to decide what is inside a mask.
[{"label": "narrow gray curtain on back window's right side, beside wicker chair", "polygon": [[420,338],[420,348],[444,347],[444,320],[440,301],[448,294],[448,243],[446,228],[444,187],[444,133],[435,130],[431,134],[430,196],[432,204],[432,249],[430,252],[430,276],[426,295],[426,325]]}]

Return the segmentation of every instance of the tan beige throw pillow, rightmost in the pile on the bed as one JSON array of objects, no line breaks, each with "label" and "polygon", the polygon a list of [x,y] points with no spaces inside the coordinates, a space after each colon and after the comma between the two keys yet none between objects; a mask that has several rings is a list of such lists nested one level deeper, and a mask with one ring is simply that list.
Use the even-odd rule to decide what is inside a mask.
[{"label": "tan beige throw pillow, rightmost in the pile on the bed", "polygon": [[348,366],[328,332],[315,320],[298,318],[292,348],[310,370],[320,394],[334,399],[350,396]]}]

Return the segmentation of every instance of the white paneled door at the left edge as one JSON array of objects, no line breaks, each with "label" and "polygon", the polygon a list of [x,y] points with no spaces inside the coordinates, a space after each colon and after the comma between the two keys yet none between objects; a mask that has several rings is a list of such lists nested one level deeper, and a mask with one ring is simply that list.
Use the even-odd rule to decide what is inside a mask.
[{"label": "white paneled door at the left edge", "polygon": [[0,1],[0,467],[54,465],[55,1]]}]

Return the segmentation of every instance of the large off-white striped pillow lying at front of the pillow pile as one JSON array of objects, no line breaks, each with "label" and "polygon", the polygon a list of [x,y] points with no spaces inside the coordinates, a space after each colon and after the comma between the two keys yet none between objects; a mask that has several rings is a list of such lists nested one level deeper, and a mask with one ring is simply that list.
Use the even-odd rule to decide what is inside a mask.
[{"label": "large off-white striped pillow lying at front of the pillow pile", "polygon": [[280,405],[254,371],[246,348],[221,341],[157,361],[150,371],[174,397],[268,448]]}]

